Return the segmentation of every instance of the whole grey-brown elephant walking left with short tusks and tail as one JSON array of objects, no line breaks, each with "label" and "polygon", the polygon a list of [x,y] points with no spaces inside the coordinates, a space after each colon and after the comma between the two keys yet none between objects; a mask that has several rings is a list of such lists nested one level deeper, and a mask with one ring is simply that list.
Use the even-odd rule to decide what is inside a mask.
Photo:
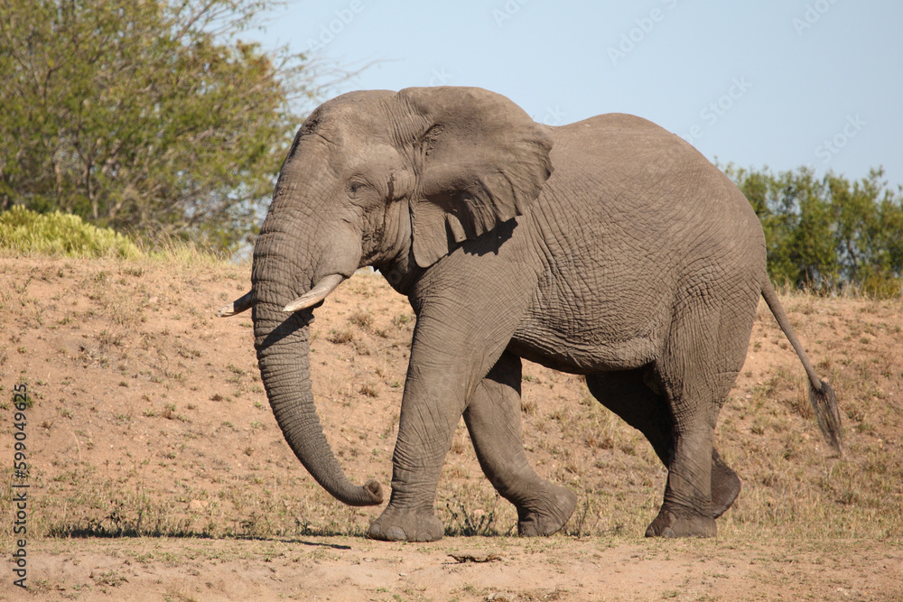
[{"label": "whole grey-brown elephant walking left with short tusks and tail", "polygon": [[721,405],[764,297],[805,367],[824,438],[841,450],[836,395],[815,374],[766,272],[762,227],[740,190],[675,134],[638,116],[536,123],[482,88],[356,91],[298,130],[254,245],[256,356],[275,419],[321,486],[352,484],[311,390],[313,310],[372,266],[417,316],[391,496],[368,535],[435,541],[436,488],[461,417],[479,465],[517,507],[520,535],[549,535],[576,495],[539,477],[521,430],[526,359],[584,375],[667,468],[647,536],[713,536],[740,478],[714,449]]}]

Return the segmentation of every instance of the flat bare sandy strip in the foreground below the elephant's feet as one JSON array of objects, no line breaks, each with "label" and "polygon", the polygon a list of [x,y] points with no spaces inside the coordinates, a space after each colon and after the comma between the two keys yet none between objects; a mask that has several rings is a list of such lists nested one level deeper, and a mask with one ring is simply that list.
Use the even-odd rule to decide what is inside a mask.
[{"label": "flat bare sandy strip in the foreground below the elephant's feet", "polygon": [[455,538],[46,541],[25,593],[79,600],[903,600],[903,550],[875,542]]}]

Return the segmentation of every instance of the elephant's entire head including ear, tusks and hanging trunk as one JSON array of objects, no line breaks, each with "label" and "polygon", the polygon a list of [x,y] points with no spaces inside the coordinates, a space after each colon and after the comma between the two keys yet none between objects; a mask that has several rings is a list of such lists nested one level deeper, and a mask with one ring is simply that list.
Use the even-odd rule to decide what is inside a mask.
[{"label": "elephant's entire head including ear, tusks and hanging trunk", "polygon": [[353,486],[313,404],[308,322],[359,267],[412,273],[523,213],[552,171],[551,143],[506,97],[479,88],[352,92],[304,122],[254,247],[253,307],[266,394],[285,439],[331,495],[377,505]]}]

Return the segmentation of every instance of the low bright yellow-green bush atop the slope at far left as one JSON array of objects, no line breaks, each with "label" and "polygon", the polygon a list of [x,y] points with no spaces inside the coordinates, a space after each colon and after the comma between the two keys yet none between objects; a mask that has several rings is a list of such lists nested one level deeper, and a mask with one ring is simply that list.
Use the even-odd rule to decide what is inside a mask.
[{"label": "low bright yellow-green bush atop the slope at far left", "polygon": [[0,248],[70,257],[136,259],[142,255],[135,243],[110,228],[92,226],[59,211],[40,214],[19,206],[0,213]]}]

